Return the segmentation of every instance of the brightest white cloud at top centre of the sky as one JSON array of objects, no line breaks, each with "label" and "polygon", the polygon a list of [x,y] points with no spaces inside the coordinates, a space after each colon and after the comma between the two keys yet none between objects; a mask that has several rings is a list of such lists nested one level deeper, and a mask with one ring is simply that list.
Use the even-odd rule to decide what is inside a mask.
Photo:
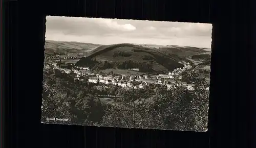
[{"label": "brightest white cloud at top centre of the sky", "polygon": [[119,30],[119,31],[134,31],[136,27],[133,26],[131,23],[119,24],[117,21],[112,19],[101,19],[101,26],[108,27],[112,30]]}]

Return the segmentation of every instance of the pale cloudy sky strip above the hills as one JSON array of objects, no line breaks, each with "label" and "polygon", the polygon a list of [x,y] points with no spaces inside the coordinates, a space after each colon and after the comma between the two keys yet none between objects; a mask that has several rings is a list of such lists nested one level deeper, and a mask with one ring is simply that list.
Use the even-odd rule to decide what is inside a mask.
[{"label": "pale cloudy sky strip above the hills", "polygon": [[46,40],[211,47],[210,23],[46,17]]}]

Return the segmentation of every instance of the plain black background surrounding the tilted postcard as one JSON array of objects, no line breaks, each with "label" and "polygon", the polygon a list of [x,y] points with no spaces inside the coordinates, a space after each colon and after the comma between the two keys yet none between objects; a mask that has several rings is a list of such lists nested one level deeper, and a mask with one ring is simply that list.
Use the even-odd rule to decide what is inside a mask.
[{"label": "plain black background surrounding the tilted postcard", "polygon": [[[249,2],[5,1],[4,5],[8,126],[4,134],[12,141],[5,143],[8,146],[253,147],[255,47]],[[41,124],[47,15],[212,23],[208,131]]]}]

